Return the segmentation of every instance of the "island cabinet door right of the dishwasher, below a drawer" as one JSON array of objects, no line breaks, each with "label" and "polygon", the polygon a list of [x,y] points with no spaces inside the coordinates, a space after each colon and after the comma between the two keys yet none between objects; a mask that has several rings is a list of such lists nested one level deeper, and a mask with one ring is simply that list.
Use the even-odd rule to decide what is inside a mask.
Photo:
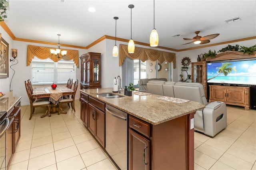
[{"label": "island cabinet door right of the dishwasher, below a drawer", "polygon": [[129,129],[129,170],[150,169],[150,141]]}]

